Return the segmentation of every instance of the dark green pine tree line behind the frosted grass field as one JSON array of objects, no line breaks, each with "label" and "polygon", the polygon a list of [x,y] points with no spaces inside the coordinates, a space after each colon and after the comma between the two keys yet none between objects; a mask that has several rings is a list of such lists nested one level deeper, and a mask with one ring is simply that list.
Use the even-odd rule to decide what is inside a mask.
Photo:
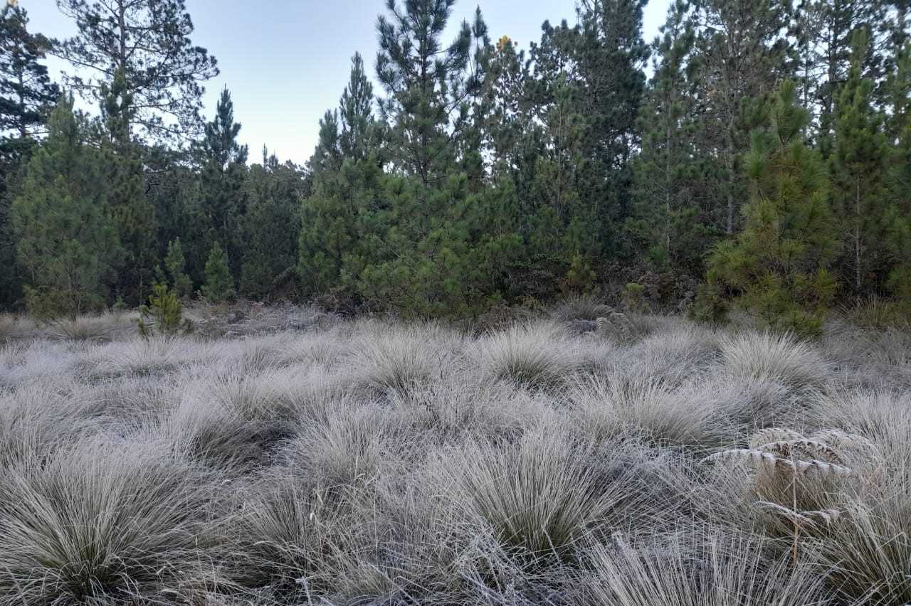
[{"label": "dark green pine tree line behind the frosted grass field", "polygon": [[[446,39],[454,3],[386,2],[305,167],[248,165],[227,90],[200,118],[217,66],[182,0],[57,0],[65,41],[5,8],[4,305],[165,282],[452,316],[641,282],[813,332],[840,300],[911,303],[904,1],[677,0],[647,44],[643,0],[580,0],[526,49],[480,9]],[[45,53],[77,68],[64,96]]]}]

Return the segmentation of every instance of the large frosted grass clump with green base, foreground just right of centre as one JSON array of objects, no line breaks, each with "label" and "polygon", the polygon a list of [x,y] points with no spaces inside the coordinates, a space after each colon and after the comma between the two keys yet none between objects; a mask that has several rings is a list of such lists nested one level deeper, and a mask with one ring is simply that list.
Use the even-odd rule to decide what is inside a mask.
[{"label": "large frosted grass clump with green base, foreground just right of centre", "polygon": [[471,441],[446,450],[435,471],[457,513],[492,529],[507,549],[568,557],[590,532],[635,525],[660,510],[657,495],[640,490],[640,454],[633,444],[537,428],[514,444]]}]

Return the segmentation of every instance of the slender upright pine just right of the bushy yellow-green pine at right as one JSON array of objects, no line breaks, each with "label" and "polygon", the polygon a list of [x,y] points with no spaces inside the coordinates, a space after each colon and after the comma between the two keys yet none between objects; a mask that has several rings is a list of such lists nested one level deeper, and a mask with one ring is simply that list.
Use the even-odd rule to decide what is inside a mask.
[{"label": "slender upright pine just right of the bushy yellow-green pine at right", "polygon": [[887,147],[882,116],[873,106],[874,83],[862,75],[869,45],[865,29],[855,32],[854,45],[851,69],[835,106],[831,165],[834,217],[844,229],[841,278],[855,296],[864,297],[885,281],[875,274],[884,263]]}]

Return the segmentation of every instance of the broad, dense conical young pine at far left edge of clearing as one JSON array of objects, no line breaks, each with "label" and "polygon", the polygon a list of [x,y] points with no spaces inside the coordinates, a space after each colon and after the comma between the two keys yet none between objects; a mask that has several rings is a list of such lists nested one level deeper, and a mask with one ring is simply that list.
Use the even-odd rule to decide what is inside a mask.
[{"label": "broad, dense conical young pine at far left edge of clearing", "polygon": [[48,127],[13,202],[16,252],[27,272],[29,312],[75,319],[105,303],[118,238],[97,153],[83,141],[72,98],[57,104]]}]

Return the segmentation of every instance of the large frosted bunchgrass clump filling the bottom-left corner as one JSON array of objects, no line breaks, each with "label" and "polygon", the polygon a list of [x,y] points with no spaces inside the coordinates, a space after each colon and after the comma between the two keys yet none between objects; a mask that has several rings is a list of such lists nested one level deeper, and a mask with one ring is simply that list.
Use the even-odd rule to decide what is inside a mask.
[{"label": "large frosted bunchgrass clump filling the bottom-left corner", "polygon": [[0,595],[128,603],[163,597],[198,565],[211,492],[198,466],[103,439],[43,459],[36,453],[0,480]]}]

